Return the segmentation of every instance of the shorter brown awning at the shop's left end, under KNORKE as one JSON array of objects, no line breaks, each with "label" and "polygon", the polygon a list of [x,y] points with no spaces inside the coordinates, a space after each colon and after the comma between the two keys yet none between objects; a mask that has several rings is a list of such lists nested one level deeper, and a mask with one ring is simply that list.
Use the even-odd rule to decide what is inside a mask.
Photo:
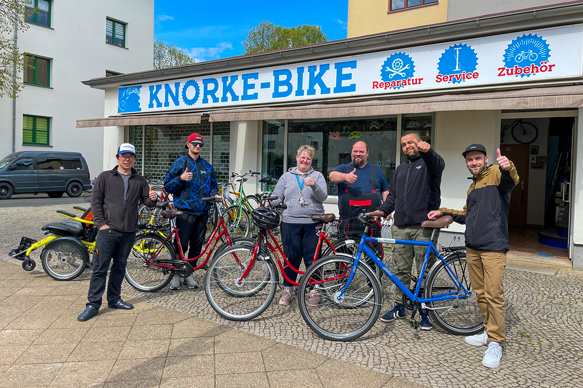
[{"label": "shorter brown awning at the shop's left end, under KNORKE", "polygon": [[177,125],[177,124],[201,124],[201,114],[184,113],[173,115],[168,114],[134,115],[77,120],[77,128],[92,128],[94,126]]}]

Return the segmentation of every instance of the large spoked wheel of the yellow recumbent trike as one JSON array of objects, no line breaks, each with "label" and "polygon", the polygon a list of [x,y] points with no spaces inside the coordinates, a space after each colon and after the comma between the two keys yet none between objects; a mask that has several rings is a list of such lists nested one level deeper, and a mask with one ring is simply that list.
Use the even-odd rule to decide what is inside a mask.
[{"label": "large spoked wheel of the yellow recumbent trike", "polygon": [[[79,243],[80,244],[80,243]],[[40,255],[43,269],[54,280],[73,280],[87,267],[87,248],[68,238],[56,238],[48,243]]]}]

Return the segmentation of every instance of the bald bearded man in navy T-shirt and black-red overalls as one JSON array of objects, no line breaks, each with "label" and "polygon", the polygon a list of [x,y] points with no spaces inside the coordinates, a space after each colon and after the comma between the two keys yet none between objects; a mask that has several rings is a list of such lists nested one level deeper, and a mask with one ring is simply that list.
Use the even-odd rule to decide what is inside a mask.
[{"label": "bald bearded man in navy T-shirt and black-red overalls", "polygon": [[[374,211],[387,198],[389,184],[384,172],[376,164],[367,162],[368,146],[356,142],[350,153],[352,163],[341,164],[329,175],[338,185],[338,207],[341,218],[356,217],[360,213]],[[371,222],[372,237],[381,237],[381,225]],[[382,255],[382,244],[375,246]]]}]

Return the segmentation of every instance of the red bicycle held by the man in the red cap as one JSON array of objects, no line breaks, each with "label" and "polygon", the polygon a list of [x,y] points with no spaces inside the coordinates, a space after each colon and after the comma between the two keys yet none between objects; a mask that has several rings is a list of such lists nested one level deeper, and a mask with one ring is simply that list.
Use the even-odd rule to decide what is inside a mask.
[{"label": "red bicycle held by the man in the red cap", "polygon": [[[220,198],[203,198],[202,200],[212,202],[216,209]],[[217,217],[215,228],[200,255],[196,258],[188,259],[184,257],[178,229],[174,217],[184,214],[181,210],[171,210],[170,202],[159,202],[156,207],[164,209],[159,212],[161,217],[167,218],[170,223],[170,233],[164,234],[167,228],[164,223],[155,222],[141,227],[148,230],[147,233],[138,235],[134,241],[134,246],[129,254],[128,264],[125,269],[125,280],[136,290],[142,292],[156,292],[166,287],[172,280],[173,275],[182,278],[188,277],[192,271],[205,267],[210,255],[217,243],[224,237],[226,242],[219,246],[216,253],[221,253],[224,249],[239,242],[253,242],[253,239],[245,237],[231,238],[223,218]],[[216,213],[215,213],[216,214]],[[178,247],[178,254],[174,249],[174,243]],[[205,256],[205,259],[198,266],[192,267],[191,263]]]}]

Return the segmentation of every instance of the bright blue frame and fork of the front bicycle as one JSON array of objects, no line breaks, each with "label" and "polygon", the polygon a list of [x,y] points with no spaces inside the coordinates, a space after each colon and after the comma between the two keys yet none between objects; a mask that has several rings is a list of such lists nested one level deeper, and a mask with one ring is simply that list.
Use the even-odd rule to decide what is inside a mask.
[{"label": "bright blue frame and fork of the front bicycle", "polygon": [[[395,274],[392,273],[392,271],[388,269],[388,267],[385,265],[385,263],[383,263],[377,257],[377,254],[375,252],[373,252],[373,250],[368,248],[368,246],[366,244],[364,244],[365,242],[381,242],[381,243],[387,243],[387,244],[400,244],[400,245],[413,245],[413,246],[426,246],[427,247],[427,251],[425,253],[425,258],[423,259],[423,267],[421,269],[421,273],[419,274],[419,280],[417,281],[417,285],[415,286],[415,295],[412,294],[412,292],[409,291],[409,288],[405,287],[405,285],[401,282],[401,280],[399,280],[395,276]],[[429,255],[430,255],[431,251],[433,251],[436,254],[437,258],[440,259],[444,263],[445,270],[447,271],[449,278],[451,278],[451,281],[453,281],[454,284],[456,285],[457,290],[456,290],[456,292],[446,292],[445,294],[438,294],[432,298],[417,298],[416,295],[419,295],[419,290],[421,289],[421,284],[423,283],[423,276],[425,274],[425,269],[427,267],[427,262],[429,261]],[[352,268],[350,269],[350,276],[349,276],[348,281],[346,282],[345,286],[342,288],[342,291],[340,291],[340,294],[337,297],[338,299],[342,298],[342,295],[344,295],[348,286],[350,285],[350,282],[352,281],[354,274],[356,273],[356,267],[359,264],[360,256],[362,255],[363,252],[366,253],[368,255],[368,257],[371,258],[375,264],[377,264],[377,266],[385,273],[385,275],[387,275],[387,277],[389,277],[391,279],[391,281],[399,288],[399,290],[401,290],[403,292],[403,294],[405,294],[413,303],[415,303],[415,302],[419,302],[419,303],[438,302],[438,301],[445,301],[448,299],[455,299],[458,297],[462,297],[462,298],[468,297],[469,295],[471,295],[471,292],[466,290],[465,287],[463,287],[463,284],[461,283],[461,281],[459,281],[459,279],[455,275],[454,271],[452,271],[452,269],[449,268],[449,266],[445,262],[444,258],[440,255],[439,252],[437,252],[437,249],[433,245],[433,241],[413,241],[413,240],[398,240],[398,239],[392,239],[392,238],[375,238],[375,237],[366,237],[366,235],[363,234],[362,237],[360,238],[359,251],[356,253],[356,256],[354,258],[354,263],[352,264]]]}]

